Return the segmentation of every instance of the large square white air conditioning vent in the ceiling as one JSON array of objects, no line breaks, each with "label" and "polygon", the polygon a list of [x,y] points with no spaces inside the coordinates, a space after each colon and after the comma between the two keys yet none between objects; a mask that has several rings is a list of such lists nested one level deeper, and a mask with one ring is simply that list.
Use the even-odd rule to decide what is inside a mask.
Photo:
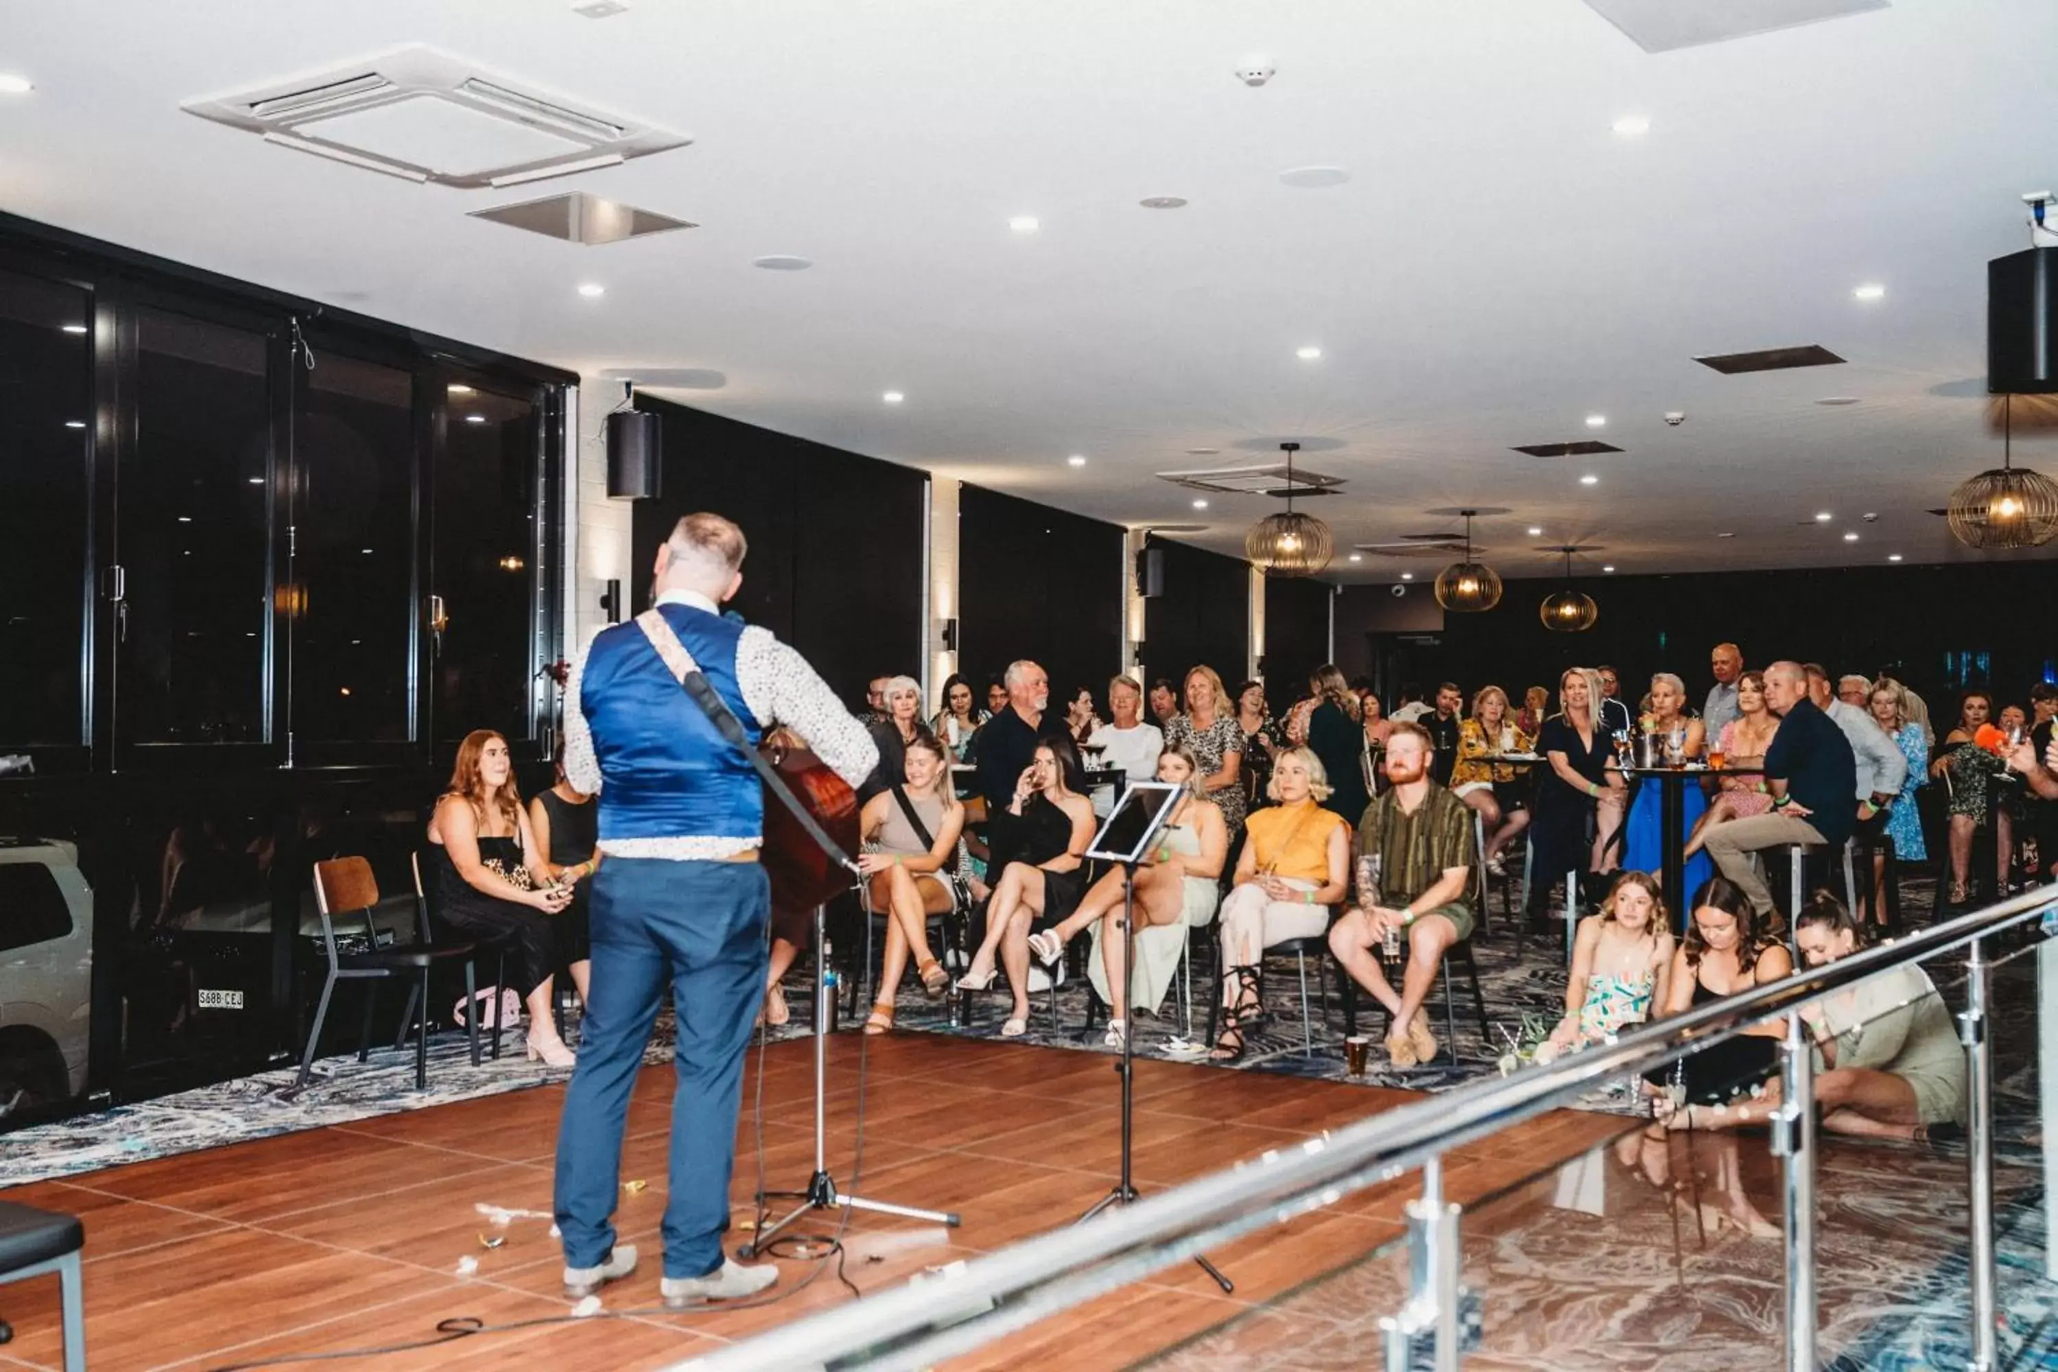
[{"label": "large square white air conditioning vent in the ceiling", "polygon": [[568,177],[689,142],[422,45],[183,109],[280,148],[463,189]]}]

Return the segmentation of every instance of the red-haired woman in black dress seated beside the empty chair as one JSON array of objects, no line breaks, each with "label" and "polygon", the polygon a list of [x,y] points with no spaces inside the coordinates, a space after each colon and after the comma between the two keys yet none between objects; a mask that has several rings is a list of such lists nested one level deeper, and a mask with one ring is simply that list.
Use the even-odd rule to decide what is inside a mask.
[{"label": "red-haired woman in black dress seated beside the empty chair", "polygon": [[529,1006],[529,1061],[570,1068],[572,1049],[558,1037],[549,987],[556,917],[572,903],[572,887],[552,882],[514,790],[508,743],[494,730],[475,728],[457,747],[451,790],[428,821],[428,856],[436,917],[467,938],[508,946],[508,985]]}]

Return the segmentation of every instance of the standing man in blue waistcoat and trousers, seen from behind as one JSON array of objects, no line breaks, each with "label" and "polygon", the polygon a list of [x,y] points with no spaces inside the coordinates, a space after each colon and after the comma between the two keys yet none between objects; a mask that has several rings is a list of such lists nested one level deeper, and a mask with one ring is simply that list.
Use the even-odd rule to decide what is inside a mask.
[{"label": "standing man in blue waistcoat and trousers, seen from behind", "polygon": [[[657,553],[657,607],[595,636],[564,693],[564,771],[578,790],[599,792],[603,858],[593,876],[593,1000],[558,1131],[570,1298],[636,1269],[636,1249],[615,1244],[613,1228],[622,1133],[667,979],[679,1082],[665,1304],[735,1300],[778,1279],[770,1263],[722,1257],[743,1049],[768,956],[755,747],[778,720],[852,786],[879,751],[799,652],[722,617],[722,601],[743,584],[743,531],[720,514],[681,518]],[[720,708],[681,689],[696,669]],[[714,718],[722,708],[733,716],[720,720],[726,730]]]}]

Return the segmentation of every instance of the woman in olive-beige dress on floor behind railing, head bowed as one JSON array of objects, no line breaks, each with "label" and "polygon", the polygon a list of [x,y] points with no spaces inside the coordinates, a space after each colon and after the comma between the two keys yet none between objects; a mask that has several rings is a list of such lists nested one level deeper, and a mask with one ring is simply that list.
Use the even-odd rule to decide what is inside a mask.
[{"label": "woman in olive-beige dress on floor behind railing, head bowed", "polygon": [[[1848,959],[1867,942],[1867,922],[1828,891],[1795,917],[1809,967]],[[1912,1140],[1955,1133],[1965,1123],[1965,1049],[1937,983],[1920,967],[1893,967],[1801,1012],[1815,1039],[1815,1109],[1832,1133]],[[1780,1080],[1727,1111],[1690,1105],[1694,1129],[1762,1125],[1780,1109]]]}]

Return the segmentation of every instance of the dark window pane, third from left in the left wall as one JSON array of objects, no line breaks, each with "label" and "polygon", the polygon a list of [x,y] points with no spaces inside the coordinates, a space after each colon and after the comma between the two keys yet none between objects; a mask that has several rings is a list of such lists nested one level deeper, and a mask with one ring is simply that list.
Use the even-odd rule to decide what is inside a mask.
[{"label": "dark window pane, third from left in the left wall", "polygon": [[405,741],[414,376],[321,352],[294,416],[292,732]]}]

